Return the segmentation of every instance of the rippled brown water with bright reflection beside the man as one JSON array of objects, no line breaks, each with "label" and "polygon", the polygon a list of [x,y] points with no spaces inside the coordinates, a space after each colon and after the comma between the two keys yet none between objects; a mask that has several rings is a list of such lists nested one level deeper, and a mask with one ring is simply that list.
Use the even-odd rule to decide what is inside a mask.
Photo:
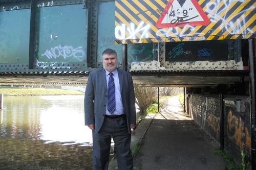
[{"label": "rippled brown water with bright reflection beside the man", "polygon": [[4,96],[0,169],[92,169],[92,132],[84,126],[83,99]]}]

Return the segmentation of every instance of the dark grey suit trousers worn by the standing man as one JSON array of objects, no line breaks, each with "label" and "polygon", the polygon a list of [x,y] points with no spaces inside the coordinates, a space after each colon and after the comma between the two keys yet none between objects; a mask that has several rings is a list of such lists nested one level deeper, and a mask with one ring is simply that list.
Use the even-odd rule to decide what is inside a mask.
[{"label": "dark grey suit trousers worn by the standing man", "polygon": [[131,134],[127,129],[126,116],[115,119],[104,117],[99,132],[95,134],[95,130],[93,130],[93,170],[108,169],[111,137],[115,143],[118,169],[132,170]]}]

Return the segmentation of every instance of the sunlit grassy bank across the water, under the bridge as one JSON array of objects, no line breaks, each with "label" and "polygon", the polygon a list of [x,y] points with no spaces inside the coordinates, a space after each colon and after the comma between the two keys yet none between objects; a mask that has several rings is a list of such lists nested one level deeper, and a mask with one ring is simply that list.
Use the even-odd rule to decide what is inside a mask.
[{"label": "sunlit grassy bank across the water, under the bridge", "polygon": [[77,90],[64,90],[54,88],[6,88],[0,87],[0,93],[4,95],[83,95]]}]

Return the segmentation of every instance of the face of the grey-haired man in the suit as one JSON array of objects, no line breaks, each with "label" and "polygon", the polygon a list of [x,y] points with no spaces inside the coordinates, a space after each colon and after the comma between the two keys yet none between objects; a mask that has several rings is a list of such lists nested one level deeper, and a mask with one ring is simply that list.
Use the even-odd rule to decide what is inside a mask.
[{"label": "face of the grey-haired man in the suit", "polygon": [[102,56],[103,68],[107,71],[113,72],[117,67],[117,57],[115,54],[105,54]]}]

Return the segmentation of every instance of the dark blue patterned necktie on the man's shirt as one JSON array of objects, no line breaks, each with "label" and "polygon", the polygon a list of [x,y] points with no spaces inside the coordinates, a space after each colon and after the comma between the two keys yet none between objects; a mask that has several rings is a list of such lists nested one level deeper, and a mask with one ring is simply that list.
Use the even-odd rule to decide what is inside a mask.
[{"label": "dark blue patterned necktie on the man's shirt", "polygon": [[109,88],[108,88],[108,111],[113,114],[116,110],[115,82],[113,73],[110,72]]}]

